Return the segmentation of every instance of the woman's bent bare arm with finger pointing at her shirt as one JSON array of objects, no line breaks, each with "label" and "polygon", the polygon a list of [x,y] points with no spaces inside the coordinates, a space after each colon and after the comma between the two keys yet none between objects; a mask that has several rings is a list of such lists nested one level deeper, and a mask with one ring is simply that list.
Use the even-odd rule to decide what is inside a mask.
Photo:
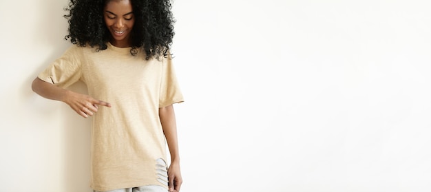
[{"label": "woman's bent bare arm with finger pointing at her shirt", "polygon": [[111,104],[96,100],[91,96],[72,92],[61,87],[56,87],[51,83],[42,81],[40,78],[35,78],[32,83],[32,89],[36,94],[44,98],[59,100],[69,105],[77,114],[87,118],[97,112],[98,105],[111,107]]}]

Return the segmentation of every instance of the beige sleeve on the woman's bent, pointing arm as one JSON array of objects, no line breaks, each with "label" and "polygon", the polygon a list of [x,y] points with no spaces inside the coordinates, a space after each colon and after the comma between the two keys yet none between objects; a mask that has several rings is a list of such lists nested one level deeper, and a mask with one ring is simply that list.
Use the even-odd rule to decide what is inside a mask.
[{"label": "beige sleeve on the woman's bent, pointing arm", "polygon": [[69,87],[81,78],[83,60],[82,47],[73,45],[57,58],[54,63],[41,72],[38,77],[59,87]]}]

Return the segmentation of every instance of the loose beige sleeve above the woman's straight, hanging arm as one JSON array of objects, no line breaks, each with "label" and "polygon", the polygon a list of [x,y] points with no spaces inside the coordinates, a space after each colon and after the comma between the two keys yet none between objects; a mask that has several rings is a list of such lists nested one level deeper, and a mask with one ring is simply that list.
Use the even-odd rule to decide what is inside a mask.
[{"label": "loose beige sleeve above the woman's straight, hanging arm", "polygon": [[167,107],[174,103],[182,103],[180,86],[178,84],[172,58],[164,58],[162,62],[162,76],[160,81],[159,107]]}]

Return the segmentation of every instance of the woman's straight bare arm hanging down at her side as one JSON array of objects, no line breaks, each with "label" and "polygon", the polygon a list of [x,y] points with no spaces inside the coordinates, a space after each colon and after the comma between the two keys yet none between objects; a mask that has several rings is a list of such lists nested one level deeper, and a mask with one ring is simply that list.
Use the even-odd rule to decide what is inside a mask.
[{"label": "woman's straight bare arm hanging down at her side", "polygon": [[178,136],[174,107],[169,105],[158,110],[163,132],[171,153],[171,165],[168,169],[169,191],[180,191],[182,177],[180,171],[180,153],[178,151]]}]

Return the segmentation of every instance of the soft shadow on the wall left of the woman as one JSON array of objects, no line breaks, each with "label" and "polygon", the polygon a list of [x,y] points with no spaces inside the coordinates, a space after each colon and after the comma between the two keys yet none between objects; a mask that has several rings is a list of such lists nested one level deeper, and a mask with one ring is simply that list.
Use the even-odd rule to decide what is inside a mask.
[{"label": "soft shadow on the wall left of the woman", "polygon": [[[39,35],[29,43],[30,46],[34,46],[34,49],[43,48],[50,54],[44,59],[43,63],[30,63],[30,65],[37,65],[38,67],[29,74],[24,84],[20,87],[21,96],[23,96],[24,100],[31,102],[32,98],[34,98],[34,92],[32,92],[30,85],[37,74],[45,70],[50,63],[59,58],[72,45],[64,39],[67,34],[67,19],[63,15],[67,14],[64,8],[68,3],[69,0],[61,0],[37,4],[39,8],[38,14],[41,14],[41,16],[39,17],[40,21],[34,25],[33,32]],[[54,30],[52,30],[53,28]],[[87,94],[87,87],[82,82],[75,83],[68,89]],[[64,136],[61,136],[63,143],[59,144],[64,147],[61,149],[64,155],[61,159],[65,161],[61,162],[61,164],[64,164],[64,173],[59,175],[63,182],[61,186],[64,187],[62,191],[92,191],[89,186],[91,118],[82,118],[64,103],[62,103],[59,110],[54,110],[52,107],[50,109],[45,108],[38,107],[37,109],[43,114],[58,111],[61,114],[61,120],[64,122],[64,127],[59,127],[59,129],[64,130]]]}]

